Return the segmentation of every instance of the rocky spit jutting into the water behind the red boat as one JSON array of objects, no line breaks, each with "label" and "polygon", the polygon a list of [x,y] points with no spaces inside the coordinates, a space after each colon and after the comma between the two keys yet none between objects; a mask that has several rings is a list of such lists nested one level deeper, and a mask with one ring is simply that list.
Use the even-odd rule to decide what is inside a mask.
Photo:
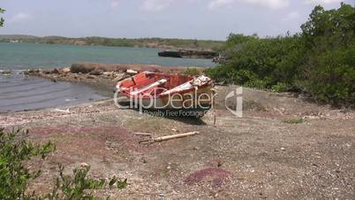
[{"label": "rocky spit jutting into the water behind the red boat", "polygon": [[[98,89],[102,94],[111,96],[118,81],[136,73],[151,71],[157,73],[181,73],[187,67],[163,67],[160,65],[131,64],[72,64],[70,67],[55,69],[36,69],[24,71],[25,75],[38,76],[51,81],[82,82]],[[204,68],[196,68],[200,72]],[[11,73],[11,72],[9,72]]]}]

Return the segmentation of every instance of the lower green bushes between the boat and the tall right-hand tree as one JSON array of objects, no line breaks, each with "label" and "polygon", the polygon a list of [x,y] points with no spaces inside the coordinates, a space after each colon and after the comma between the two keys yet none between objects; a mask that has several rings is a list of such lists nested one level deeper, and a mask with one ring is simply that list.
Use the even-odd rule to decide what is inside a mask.
[{"label": "lower green bushes between the boat and the tall right-hand tree", "polygon": [[[227,42],[228,43],[228,42]],[[237,83],[253,88],[272,88],[274,85],[291,85],[303,62],[298,35],[293,37],[249,39],[237,46],[230,59],[206,73],[216,81]]]}]

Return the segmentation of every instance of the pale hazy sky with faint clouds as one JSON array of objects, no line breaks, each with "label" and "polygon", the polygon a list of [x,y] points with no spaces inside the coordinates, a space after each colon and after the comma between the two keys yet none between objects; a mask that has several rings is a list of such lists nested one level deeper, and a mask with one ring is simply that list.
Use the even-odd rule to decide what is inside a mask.
[{"label": "pale hazy sky with faint clouds", "polygon": [[316,4],[355,0],[0,0],[0,35],[225,40],[300,31]]}]

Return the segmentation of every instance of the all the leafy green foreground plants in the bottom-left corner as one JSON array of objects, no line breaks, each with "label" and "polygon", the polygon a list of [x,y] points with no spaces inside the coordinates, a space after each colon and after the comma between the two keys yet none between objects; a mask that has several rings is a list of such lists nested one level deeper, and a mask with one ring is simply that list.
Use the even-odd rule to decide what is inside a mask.
[{"label": "all the leafy green foreground plants in the bottom-left corner", "polygon": [[42,162],[56,148],[52,142],[36,144],[26,140],[28,132],[21,130],[5,133],[0,128],[0,199],[94,199],[90,190],[125,188],[126,180],[117,177],[110,180],[94,180],[88,177],[90,167],[83,165],[71,175],[64,174],[64,166],[59,165],[59,176],[50,194],[35,194],[28,191],[28,185],[41,176],[42,169],[32,169],[26,164],[41,159]]}]

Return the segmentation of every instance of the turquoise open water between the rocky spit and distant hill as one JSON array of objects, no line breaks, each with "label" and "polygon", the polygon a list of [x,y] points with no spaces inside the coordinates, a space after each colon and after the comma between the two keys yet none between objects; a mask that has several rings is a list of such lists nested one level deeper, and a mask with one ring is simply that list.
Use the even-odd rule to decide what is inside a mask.
[{"label": "turquoise open water between the rocky spit and distant hill", "polygon": [[210,59],[161,58],[157,49],[0,42],[0,70],[53,68],[72,63],[212,66]]}]

